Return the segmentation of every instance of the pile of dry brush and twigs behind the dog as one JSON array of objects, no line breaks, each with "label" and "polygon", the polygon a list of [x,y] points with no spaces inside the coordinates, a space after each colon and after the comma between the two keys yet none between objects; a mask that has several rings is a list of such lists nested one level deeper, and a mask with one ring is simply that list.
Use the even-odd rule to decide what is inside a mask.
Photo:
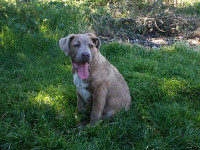
[{"label": "pile of dry brush and twigs behind the dog", "polygon": [[[162,3],[137,5],[120,2],[104,7],[101,13],[90,13],[89,17],[97,34],[129,39],[141,35],[179,36],[197,28],[193,17],[176,11],[177,8]],[[105,15],[102,16],[102,12]]]}]

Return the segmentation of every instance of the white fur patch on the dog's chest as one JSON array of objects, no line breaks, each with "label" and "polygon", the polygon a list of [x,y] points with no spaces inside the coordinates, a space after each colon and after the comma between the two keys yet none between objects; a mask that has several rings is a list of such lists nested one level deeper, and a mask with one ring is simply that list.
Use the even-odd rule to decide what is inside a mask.
[{"label": "white fur patch on the dog's chest", "polygon": [[86,88],[88,87],[88,84],[84,83],[83,80],[78,76],[77,73],[74,75],[74,85],[77,88],[78,93],[81,95],[83,98],[84,102],[88,102],[89,98],[91,97],[91,94]]}]

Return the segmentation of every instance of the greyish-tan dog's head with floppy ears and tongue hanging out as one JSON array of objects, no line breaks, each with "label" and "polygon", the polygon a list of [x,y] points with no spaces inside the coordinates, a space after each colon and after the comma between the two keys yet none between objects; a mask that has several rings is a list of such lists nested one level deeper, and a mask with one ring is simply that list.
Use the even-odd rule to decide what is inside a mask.
[{"label": "greyish-tan dog's head with floppy ears and tongue hanging out", "polygon": [[81,79],[89,77],[88,66],[93,56],[99,51],[101,41],[92,33],[70,34],[59,40],[60,48],[72,60],[73,68],[78,72]]}]

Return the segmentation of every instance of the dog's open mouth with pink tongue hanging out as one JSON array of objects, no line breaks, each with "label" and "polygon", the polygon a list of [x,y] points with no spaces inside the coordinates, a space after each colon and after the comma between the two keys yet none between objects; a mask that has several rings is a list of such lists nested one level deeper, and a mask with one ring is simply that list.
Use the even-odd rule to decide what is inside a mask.
[{"label": "dog's open mouth with pink tongue hanging out", "polygon": [[72,65],[73,68],[78,72],[78,76],[81,79],[87,79],[89,77],[89,71],[88,71],[89,64],[87,62],[77,63],[75,61],[72,61]]}]

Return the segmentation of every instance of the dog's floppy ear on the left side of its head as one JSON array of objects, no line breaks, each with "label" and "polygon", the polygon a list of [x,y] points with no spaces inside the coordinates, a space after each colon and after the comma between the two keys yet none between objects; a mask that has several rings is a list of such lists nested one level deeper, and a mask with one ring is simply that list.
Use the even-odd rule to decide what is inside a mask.
[{"label": "dog's floppy ear on the left side of its head", "polygon": [[60,48],[63,50],[65,55],[68,55],[68,53],[69,53],[69,44],[73,40],[74,37],[75,37],[75,34],[70,34],[67,37],[62,38],[62,39],[59,40]]}]

